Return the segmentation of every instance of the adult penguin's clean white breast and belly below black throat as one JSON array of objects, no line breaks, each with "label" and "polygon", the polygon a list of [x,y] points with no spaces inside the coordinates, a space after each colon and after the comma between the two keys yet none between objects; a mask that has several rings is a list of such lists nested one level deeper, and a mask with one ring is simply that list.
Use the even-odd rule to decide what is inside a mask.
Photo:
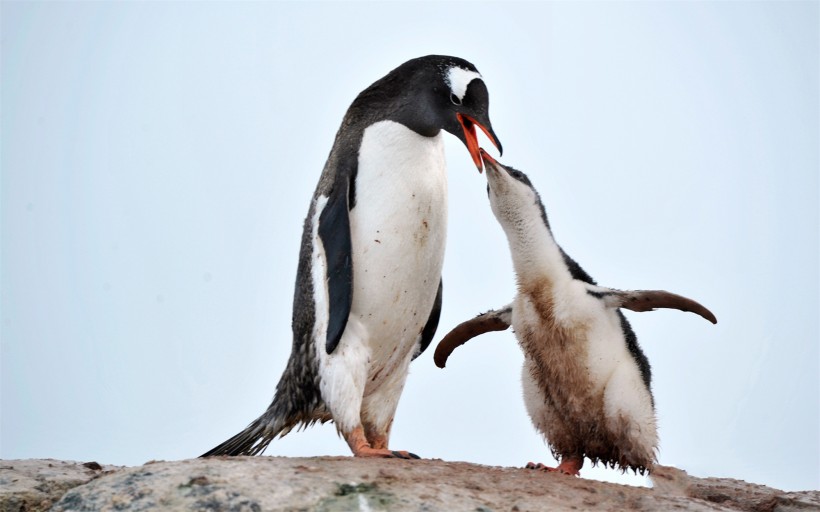
[{"label": "adult penguin's clean white breast and belly below black throat", "polygon": [[389,374],[409,361],[441,276],[447,236],[441,134],[424,137],[393,121],[365,130],[350,230],[350,320],[367,333],[372,376]]}]

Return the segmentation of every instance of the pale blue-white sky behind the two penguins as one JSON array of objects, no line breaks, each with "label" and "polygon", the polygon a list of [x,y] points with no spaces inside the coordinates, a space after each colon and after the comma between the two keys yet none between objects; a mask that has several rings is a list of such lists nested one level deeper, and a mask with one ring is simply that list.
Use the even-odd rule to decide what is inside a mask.
[{"label": "pale blue-white sky behind the two penguins", "polygon": [[[820,488],[817,2],[0,9],[0,457],[190,458],[262,413],[342,116],[392,68],[440,53],[478,67],[500,160],[530,176],[558,242],[600,284],[717,315],[627,312],[653,367],[660,462]],[[485,179],[455,137],[446,149],[434,343],[514,295]],[[510,332],[445,370],[428,350],[391,447],[554,463],[521,360]],[[348,453],[332,425],[266,452]]]}]

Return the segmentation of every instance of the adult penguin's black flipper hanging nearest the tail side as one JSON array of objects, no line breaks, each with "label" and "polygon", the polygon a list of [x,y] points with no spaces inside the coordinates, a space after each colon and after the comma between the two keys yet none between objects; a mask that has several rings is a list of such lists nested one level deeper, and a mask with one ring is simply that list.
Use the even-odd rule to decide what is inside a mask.
[{"label": "adult penguin's black flipper hanging nearest the tail side", "polygon": [[336,349],[342,338],[353,303],[353,249],[348,209],[350,178],[340,181],[331,190],[327,204],[319,215],[318,229],[327,262],[329,318],[325,349],[328,354]]}]

